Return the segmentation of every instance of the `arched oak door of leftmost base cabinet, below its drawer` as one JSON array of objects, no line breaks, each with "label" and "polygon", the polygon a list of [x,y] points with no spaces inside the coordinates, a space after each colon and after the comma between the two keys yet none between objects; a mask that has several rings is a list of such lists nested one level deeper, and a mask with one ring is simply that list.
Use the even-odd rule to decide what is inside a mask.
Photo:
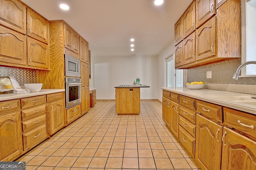
[{"label": "arched oak door of leftmost base cabinet, below its drawer", "polygon": [[23,151],[20,112],[0,116],[0,161],[13,161]]}]

